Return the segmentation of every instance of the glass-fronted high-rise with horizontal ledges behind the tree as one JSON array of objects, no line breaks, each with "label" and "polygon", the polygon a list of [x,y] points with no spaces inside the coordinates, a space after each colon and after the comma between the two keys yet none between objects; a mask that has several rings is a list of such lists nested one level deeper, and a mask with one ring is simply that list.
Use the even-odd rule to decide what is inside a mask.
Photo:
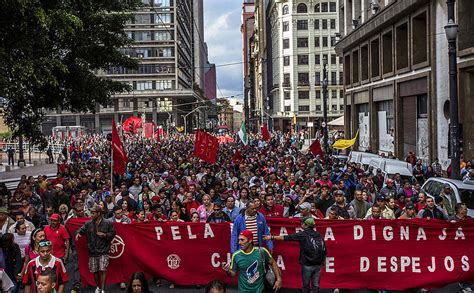
[{"label": "glass-fronted high-rise with horizontal ledges behind the tree", "polygon": [[[110,131],[112,117],[123,121],[142,117],[157,125],[183,125],[183,115],[196,107],[205,92],[203,0],[142,0],[125,31],[134,40],[122,51],[139,59],[137,70],[111,67],[98,74],[129,83],[132,91],[116,94],[110,105],[97,105],[96,114],[48,113],[42,125],[50,134],[57,125],[82,125]],[[198,111],[196,111],[198,112]],[[197,115],[199,113],[194,114]],[[200,116],[200,115],[197,115]],[[187,119],[188,129],[197,119]]]}]

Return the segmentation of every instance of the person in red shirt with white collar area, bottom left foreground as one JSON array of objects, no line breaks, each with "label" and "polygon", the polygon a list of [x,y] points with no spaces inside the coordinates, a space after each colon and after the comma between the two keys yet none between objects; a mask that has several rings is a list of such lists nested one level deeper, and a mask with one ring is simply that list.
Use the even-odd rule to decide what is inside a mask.
[{"label": "person in red shirt with white collar area, bottom left foreground", "polygon": [[23,285],[25,285],[24,293],[38,293],[36,282],[44,270],[54,270],[56,274],[55,289],[57,293],[64,292],[64,284],[69,281],[66,268],[63,262],[51,255],[51,241],[41,241],[39,243],[39,256],[30,260],[23,275]]}]

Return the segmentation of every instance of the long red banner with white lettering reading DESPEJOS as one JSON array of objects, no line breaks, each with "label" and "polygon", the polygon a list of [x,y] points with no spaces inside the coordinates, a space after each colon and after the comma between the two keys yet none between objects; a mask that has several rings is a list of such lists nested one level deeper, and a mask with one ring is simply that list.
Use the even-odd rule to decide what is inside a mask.
[{"label": "long red banner with white lettering reading DESPEJOS", "polygon": [[[75,231],[84,220],[71,220]],[[268,219],[273,235],[294,233],[299,222]],[[116,224],[107,281],[127,282],[135,271],[178,285],[228,279],[221,270],[230,261],[229,224]],[[437,220],[367,220],[317,222],[328,256],[323,288],[406,290],[436,288],[455,282],[474,283],[474,220],[451,224]],[[86,237],[78,246],[81,279],[93,285],[87,267]],[[273,257],[283,272],[283,287],[301,288],[299,245],[275,243]]]}]

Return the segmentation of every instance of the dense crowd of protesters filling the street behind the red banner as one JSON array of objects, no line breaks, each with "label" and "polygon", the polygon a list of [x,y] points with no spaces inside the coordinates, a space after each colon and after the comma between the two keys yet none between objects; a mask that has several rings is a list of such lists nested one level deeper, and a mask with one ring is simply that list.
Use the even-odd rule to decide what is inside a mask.
[{"label": "dense crowd of protesters filling the street behind the red banner", "polygon": [[[71,218],[90,217],[96,206],[105,219],[117,223],[235,222],[237,229],[245,217],[451,221],[468,217],[466,205],[456,202],[449,185],[434,197],[421,190],[430,176],[443,176],[445,170],[437,161],[430,165],[414,161],[417,182],[412,184],[399,174],[385,180],[381,170],[302,152],[298,135],[275,132],[267,142],[259,135],[249,137],[245,147],[238,138],[222,144],[212,165],[193,156],[194,135],[172,134],[161,140],[127,137],[127,171],[114,176],[105,136],[65,141],[55,158],[56,178],[23,176],[12,193],[0,188],[0,266],[15,290],[21,283],[34,288],[36,280],[28,277],[31,261],[48,250],[43,247],[51,248],[52,263],[57,261],[58,266],[73,258],[74,235],[65,224]],[[471,161],[463,162],[461,172],[466,180],[474,180]],[[251,229],[256,244],[263,245],[265,228]],[[232,252],[238,249],[238,236],[233,233]],[[271,241],[266,242],[271,249]],[[69,277],[77,283],[75,275],[70,272]],[[61,282],[68,280],[65,276],[55,278],[58,292]]]}]

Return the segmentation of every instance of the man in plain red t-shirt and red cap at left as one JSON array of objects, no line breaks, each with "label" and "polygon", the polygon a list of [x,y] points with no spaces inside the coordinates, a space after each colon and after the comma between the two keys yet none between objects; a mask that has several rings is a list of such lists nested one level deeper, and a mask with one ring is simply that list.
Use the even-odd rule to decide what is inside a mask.
[{"label": "man in plain red t-shirt and red cap at left", "polygon": [[59,224],[60,216],[58,214],[52,214],[50,220],[51,224],[44,227],[46,239],[51,241],[53,255],[67,261],[69,258],[69,241],[71,237],[66,228]]}]

